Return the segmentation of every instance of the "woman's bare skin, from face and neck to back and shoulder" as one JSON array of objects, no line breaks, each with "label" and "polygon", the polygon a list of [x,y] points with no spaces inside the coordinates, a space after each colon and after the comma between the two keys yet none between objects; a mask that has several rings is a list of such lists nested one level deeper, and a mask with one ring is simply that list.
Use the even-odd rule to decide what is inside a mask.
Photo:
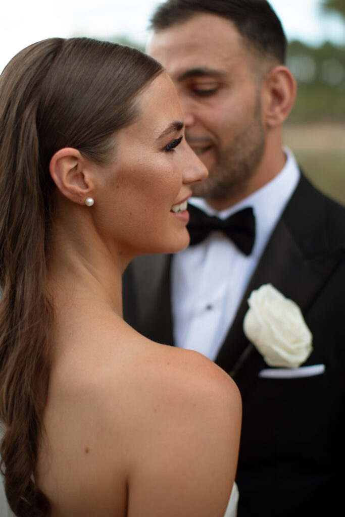
[{"label": "woman's bare skin, from face and neck to back and shoulder", "polygon": [[171,129],[183,113],[167,74],[138,102],[110,163],[71,148],[50,163],[54,359],[35,481],[52,517],[222,517],[235,477],[241,401],[230,377],[122,320],[124,267],[188,244],[170,208],[206,176],[184,140],[165,149],[183,134]]}]

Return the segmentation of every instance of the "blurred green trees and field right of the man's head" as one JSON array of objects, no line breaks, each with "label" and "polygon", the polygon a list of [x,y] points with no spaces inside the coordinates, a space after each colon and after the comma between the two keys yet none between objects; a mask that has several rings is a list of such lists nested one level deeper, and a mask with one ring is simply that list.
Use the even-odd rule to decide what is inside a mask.
[{"label": "blurred green trees and field right of the man's head", "polygon": [[[342,17],[345,31],[345,0],[322,4]],[[284,141],[312,183],[345,205],[345,42],[313,48],[291,41],[287,64],[298,93]]]}]

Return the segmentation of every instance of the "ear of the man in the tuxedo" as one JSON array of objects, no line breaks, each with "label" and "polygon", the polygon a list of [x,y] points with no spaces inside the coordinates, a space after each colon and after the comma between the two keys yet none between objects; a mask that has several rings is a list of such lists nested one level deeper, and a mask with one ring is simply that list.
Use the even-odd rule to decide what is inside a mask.
[{"label": "ear of the man in the tuxedo", "polygon": [[263,80],[263,121],[268,128],[280,126],[295,101],[297,85],[290,70],[274,67]]}]

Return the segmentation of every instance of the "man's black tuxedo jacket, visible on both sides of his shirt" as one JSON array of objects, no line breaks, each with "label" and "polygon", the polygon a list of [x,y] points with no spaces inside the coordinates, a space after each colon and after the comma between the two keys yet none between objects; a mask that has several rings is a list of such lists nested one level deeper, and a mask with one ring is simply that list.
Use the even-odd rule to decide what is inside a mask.
[{"label": "man's black tuxedo jacket, visible on both sides of his shirt", "polygon": [[[124,316],[173,344],[169,255],[139,257],[124,276]],[[243,332],[247,298],[272,283],[313,334],[303,366],[319,375],[262,378],[269,368]],[[345,208],[302,176],[254,272],[216,358],[243,398],[238,517],[336,515],[345,483]],[[301,370],[303,372],[304,370]]]}]

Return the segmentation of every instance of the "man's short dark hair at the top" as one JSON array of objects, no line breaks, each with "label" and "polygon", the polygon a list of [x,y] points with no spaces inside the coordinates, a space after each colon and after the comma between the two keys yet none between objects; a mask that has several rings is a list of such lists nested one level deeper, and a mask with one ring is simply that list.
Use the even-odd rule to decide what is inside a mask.
[{"label": "man's short dark hair at the top", "polygon": [[157,8],[150,28],[159,32],[200,13],[227,18],[252,49],[263,57],[285,62],[287,40],[279,18],[266,0],[167,0]]}]

